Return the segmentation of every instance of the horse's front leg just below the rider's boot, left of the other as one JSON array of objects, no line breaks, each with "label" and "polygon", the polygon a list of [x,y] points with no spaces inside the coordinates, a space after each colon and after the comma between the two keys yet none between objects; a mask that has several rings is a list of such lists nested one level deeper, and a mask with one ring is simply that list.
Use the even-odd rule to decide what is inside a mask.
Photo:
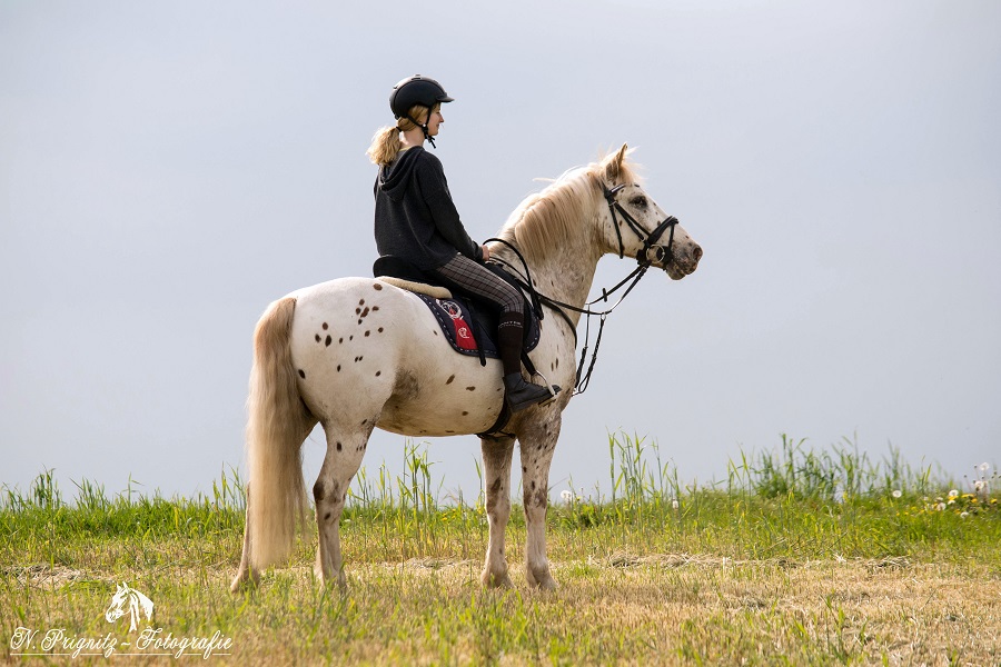
[{"label": "horse's front leg just below the rider's boot, left of the other", "polygon": [[509,588],[512,583],[507,575],[507,560],[504,558],[504,534],[511,517],[511,458],[514,454],[514,438],[483,438],[480,447],[487,520],[490,527],[482,580],[484,586],[490,588]]}]

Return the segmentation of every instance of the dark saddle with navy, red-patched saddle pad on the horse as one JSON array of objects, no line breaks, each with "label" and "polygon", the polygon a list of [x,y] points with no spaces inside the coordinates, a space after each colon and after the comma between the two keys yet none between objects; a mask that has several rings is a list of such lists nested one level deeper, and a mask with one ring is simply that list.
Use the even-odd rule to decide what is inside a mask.
[{"label": "dark saddle with navy, red-patched saddle pad on the horse", "polygon": [[[538,345],[542,313],[532,307],[524,290],[507,271],[495,263],[484,266],[515,287],[525,298],[525,340],[522,360],[528,371],[534,374],[527,352]],[[378,258],[373,265],[373,275],[379,280],[417,295],[435,316],[442,334],[455,351],[479,357],[480,366],[486,366],[487,357],[492,359],[500,357],[496,341],[500,313],[493,303],[477,299],[458,285],[425,273],[399,257],[387,255]]]}]

